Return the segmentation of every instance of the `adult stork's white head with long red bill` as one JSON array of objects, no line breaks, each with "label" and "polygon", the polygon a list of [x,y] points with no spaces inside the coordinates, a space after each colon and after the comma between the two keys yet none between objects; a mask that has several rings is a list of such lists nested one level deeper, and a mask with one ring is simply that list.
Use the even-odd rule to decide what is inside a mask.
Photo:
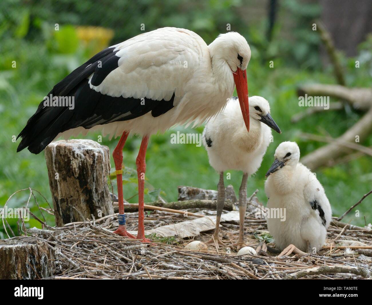
[{"label": "adult stork's white head with long red bill", "polygon": [[[241,113],[244,123],[249,131],[249,105],[248,105],[248,83],[247,66],[251,59],[251,49],[246,39],[236,33],[228,32],[220,34],[213,43],[209,45],[212,60],[217,59],[226,62],[234,76],[235,87],[239,97]],[[230,73],[227,72],[227,73]]]}]

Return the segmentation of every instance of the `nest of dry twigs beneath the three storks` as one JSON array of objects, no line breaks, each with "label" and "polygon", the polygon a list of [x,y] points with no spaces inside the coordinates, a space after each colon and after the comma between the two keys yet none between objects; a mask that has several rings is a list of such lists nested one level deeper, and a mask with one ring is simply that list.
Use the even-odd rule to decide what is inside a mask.
[{"label": "nest of dry twigs beneath the three storks", "polygon": [[[215,211],[192,212],[214,214]],[[275,247],[266,220],[246,214],[246,243],[256,248],[260,242]],[[137,228],[138,213],[127,213],[128,230]],[[213,217],[213,216],[212,216]],[[145,229],[185,221],[182,215],[154,211],[145,218]],[[328,228],[326,245],[317,254],[276,257],[238,256],[233,248],[208,251],[185,249],[190,239],[148,236],[153,243],[141,243],[117,236],[117,216],[101,221],[74,223],[48,230],[29,229],[31,238],[44,241],[53,254],[54,278],[89,279],[364,279],[372,277],[372,230],[334,220]],[[236,242],[237,223],[221,223],[224,242]],[[213,232],[195,239],[205,241]],[[20,236],[17,239],[30,238]],[[348,249],[346,249],[348,248]]]}]

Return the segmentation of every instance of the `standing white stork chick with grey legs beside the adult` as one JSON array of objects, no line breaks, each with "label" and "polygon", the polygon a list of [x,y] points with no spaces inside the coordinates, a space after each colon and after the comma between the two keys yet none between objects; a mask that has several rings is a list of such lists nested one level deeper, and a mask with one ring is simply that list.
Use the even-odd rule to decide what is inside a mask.
[{"label": "standing white stork chick with grey legs beside the adult", "polygon": [[[239,189],[240,229],[237,248],[244,244],[244,217],[247,208],[247,179],[259,169],[263,155],[270,144],[271,129],[280,133],[270,116],[269,102],[263,97],[249,98],[250,129],[247,132],[241,115],[239,100],[232,97],[227,106],[215,118],[209,120],[203,131],[203,145],[208,152],[209,163],[219,172],[217,186],[217,220],[213,239],[209,244],[225,246],[218,236],[219,221],[225,203],[225,170],[241,170],[243,179]],[[263,123],[263,124],[262,124]],[[266,124],[266,125],[265,125]]]}]

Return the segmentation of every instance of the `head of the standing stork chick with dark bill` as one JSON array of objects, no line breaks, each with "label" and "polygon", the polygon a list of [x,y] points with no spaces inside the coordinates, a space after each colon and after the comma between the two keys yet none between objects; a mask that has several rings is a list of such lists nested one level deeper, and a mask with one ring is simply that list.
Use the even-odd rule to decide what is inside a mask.
[{"label": "head of the standing stork chick with dark bill", "polygon": [[270,115],[270,105],[267,100],[260,96],[253,96],[250,98],[249,103],[249,113],[250,117],[255,120],[266,124],[270,128],[274,129],[278,133],[282,133],[278,125]]}]

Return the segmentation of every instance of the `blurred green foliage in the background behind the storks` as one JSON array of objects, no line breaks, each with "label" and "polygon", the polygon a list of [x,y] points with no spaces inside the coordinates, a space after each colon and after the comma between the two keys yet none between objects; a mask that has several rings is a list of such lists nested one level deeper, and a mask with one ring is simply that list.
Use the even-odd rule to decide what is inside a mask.
[{"label": "blurred green foliage in the background behind the storks", "polygon": [[[266,13],[260,18],[250,15],[252,1],[243,0],[140,0],[140,1],[21,1],[7,0],[0,3],[0,207],[13,192],[32,187],[44,194],[51,203],[47,168],[44,154],[30,154],[24,150],[16,153],[18,142],[12,137],[25,126],[29,117],[45,94],[64,76],[89,58],[94,45],[81,42],[76,25],[103,26],[114,30],[110,44],[115,44],[141,34],[141,23],[145,31],[163,26],[177,26],[191,29],[210,43],[219,33],[226,32],[227,23],[231,30],[240,32],[251,46],[252,56],[247,74],[250,95],[261,95],[269,100],[272,116],[282,129],[281,135],[274,134],[274,143],[264,157],[261,168],[248,180],[248,193],[259,189],[258,197],[266,203],[264,194],[264,174],[272,163],[275,148],[282,141],[297,141],[301,154],[321,147],[322,143],[302,141],[299,132],[339,136],[362,116],[354,110],[325,111],[306,117],[297,124],[290,122],[291,116],[305,109],[298,107],[296,87],[302,83],[334,83],[331,67],[320,65],[317,34],[311,30],[311,20],[320,13],[316,4],[299,4],[296,0],[285,0],[279,7],[292,24],[288,34],[292,39],[283,39],[280,33],[283,24],[274,28],[273,39],[266,40]],[[246,13],[248,12],[248,13]],[[251,19],[255,20],[254,22]],[[258,21],[257,21],[258,20]],[[55,31],[58,23],[59,30]],[[349,86],[371,85],[372,38],[360,45],[356,58],[341,56]],[[269,68],[269,60],[274,67]],[[360,68],[355,68],[355,60]],[[14,66],[15,65],[15,66]],[[148,147],[145,201],[153,201],[159,195],[167,201],[177,199],[177,186],[190,185],[215,189],[218,174],[209,166],[208,156],[203,147],[196,145],[170,144],[170,135],[176,131],[199,132],[196,129],[175,127],[163,135],[154,135]],[[86,138],[97,141],[98,133],[90,133]],[[128,139],[124,149],[124,196],[130,202],[137,201],[137,177],[135,158],[141,139]],[[103,138],[110,151],[116,141]],[[362,143],[371,146],[372,137]],[[113,167],[113,162],[112,162]],[[317,177],[324,185],[330,199],[334,215],[340,215],[360,197],[368,192],[372,182],[370,157],[360,157],[347,164],[317,171]],[[237,190],[241,182],[240,172],[231,172],[232,184]],[[112,179],[116,193],[116,179]],[[25,206],[29,192],[20,192],[9,202],[10,207]],[[39,204],[46,207],[45,200],[36,195]],[[359,218],[353,213],[344,218],[363,225],[364,217],[371,222],[371,198],[365,199],[358,208]],[[37,210],[31,199],[31,210]],[[48,216],[52,221],[52,216]],[[16,221],[9,221],[15,227]],[[27,226],[39,226],[31,220]],[[0,238],[4,238],[0,229]]]}]

